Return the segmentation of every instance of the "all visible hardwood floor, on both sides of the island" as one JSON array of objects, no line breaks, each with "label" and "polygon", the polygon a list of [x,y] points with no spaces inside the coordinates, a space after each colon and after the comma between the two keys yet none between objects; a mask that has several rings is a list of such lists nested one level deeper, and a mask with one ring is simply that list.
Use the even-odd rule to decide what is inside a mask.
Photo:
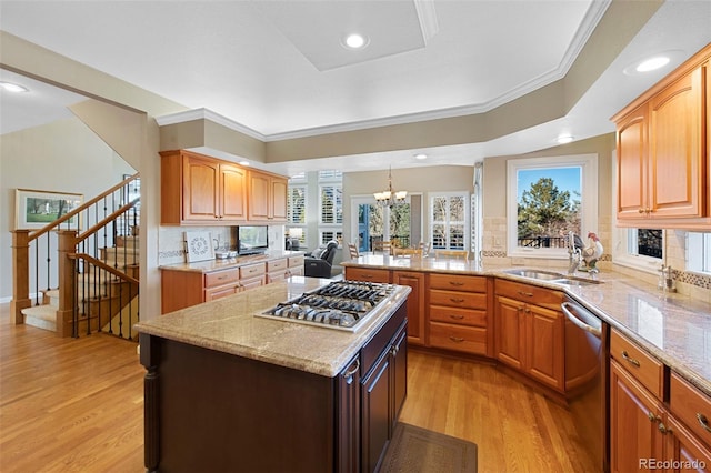
[{"label": "all visible hardwood floor, on both sides of the island", "polygon": [[[59,339],[0,305],[0,471],[143,472],[136,344]],[[479,447],[479,472],[593,472],[568,411],[494,368],[409,353],[400,420]]]}]

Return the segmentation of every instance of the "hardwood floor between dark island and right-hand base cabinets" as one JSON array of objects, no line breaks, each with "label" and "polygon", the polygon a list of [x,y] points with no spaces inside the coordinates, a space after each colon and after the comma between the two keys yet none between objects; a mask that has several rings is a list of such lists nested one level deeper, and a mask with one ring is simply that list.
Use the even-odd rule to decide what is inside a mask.
[{"label": "hardwood floor between dark island and right-hand base cabinets", "polygon": [[492,365],[410,350],[400,421],[478,446],[479,472],[599,472],[570,412]]}]

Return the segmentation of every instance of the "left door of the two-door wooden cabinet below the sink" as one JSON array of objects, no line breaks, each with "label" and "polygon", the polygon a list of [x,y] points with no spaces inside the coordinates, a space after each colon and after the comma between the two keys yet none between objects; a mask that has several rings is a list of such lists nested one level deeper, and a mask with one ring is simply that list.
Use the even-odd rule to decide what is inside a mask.
[{"label": "left door of the two-door wooden cabinet below the sink", "polygon": [[523,326],[525,304],[497,296],[497,358],[518,370],[523,369]]}]

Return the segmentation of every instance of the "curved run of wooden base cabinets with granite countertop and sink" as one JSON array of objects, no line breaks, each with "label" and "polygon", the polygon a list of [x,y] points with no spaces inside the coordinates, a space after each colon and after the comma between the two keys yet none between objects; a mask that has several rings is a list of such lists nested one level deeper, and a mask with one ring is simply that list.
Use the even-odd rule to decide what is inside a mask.
[{"label": "curved run of wooden base cabinets with granite countertop and sink", "polygon": [[[574,424],[600,471],[637,471],[639,459],[711,465],[708,302],[614,271],[591,281],[548,268],[483,271],[385,254],[341,264],[347,279],[412,288],[413,346],[493,361],[588,420],[590,427]],[[582,311],[569,315],[571,306]],[[584,346],[593,350],[583,356]]]}]

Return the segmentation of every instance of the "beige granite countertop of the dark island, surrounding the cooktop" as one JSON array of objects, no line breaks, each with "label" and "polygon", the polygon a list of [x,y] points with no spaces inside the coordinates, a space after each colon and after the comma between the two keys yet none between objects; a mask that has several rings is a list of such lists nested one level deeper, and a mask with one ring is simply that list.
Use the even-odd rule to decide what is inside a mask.
[{"label": "beige granite countertop of the dark island, surrounding the cooktop", "polygon": [[356,332],[256,316],[330,282],[292,276],[140,322],[136,329],[141,333],[332,378],[390,319],[407,299],[410,288],[395,286],[392,296],[378,304]]}]

